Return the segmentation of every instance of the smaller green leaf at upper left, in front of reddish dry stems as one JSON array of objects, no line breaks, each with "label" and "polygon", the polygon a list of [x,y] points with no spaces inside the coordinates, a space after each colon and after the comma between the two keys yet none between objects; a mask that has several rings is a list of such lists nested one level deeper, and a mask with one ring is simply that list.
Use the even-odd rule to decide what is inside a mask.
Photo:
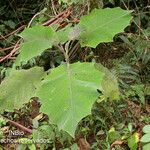
[{"label": "smaller green leaf at upper left, in front of reddish dry stems", "polygon": [[27,61],[40,55],[44,50],[51,48],[56,40],[54,29],[44,26],[26,28],[19,36],[23,38],[24,42],[21,45],[18,62]]}]

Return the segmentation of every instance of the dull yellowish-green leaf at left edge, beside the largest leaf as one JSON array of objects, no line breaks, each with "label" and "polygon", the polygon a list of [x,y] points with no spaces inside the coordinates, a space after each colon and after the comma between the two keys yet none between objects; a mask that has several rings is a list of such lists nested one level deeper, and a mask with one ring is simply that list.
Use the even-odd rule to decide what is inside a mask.
[{"label": "dull yellowish-green leaf at left edge, beside the largest leaf", "polygon": [[44,77],[42,68],[14,70],[0,85],[0,111],[19,109],[35,96],[36,88]]}]

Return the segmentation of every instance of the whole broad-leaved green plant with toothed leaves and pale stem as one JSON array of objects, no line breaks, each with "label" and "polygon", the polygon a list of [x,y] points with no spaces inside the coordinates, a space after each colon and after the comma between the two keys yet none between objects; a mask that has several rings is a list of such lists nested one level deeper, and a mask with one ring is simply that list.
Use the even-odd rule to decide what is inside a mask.
[{"label": "whole broad-leaved green plant with toothed leaves and pale stem", "polygon": [[74,28],[71,25],[62,30],[57,30],[56,26],[26,28],[19,34],[24,42],[17,65],[52,46],[62,46],[61,52],[65,53],[67,64],[51,69],[42,84],[42,69],[13,71],[0,86],[0,91],[4,87],[0,95],[1,110],[19,109],[31,97],[38,96],[42,101],[41,111],[60,130],[73,136],[79,121],[91,113],[91,107],[98,97],[97,90],[102,89],[105,99],[111,100],[119,99],[119,90],[116,78],[108,69],[99,66],[96,70],[94,63],[69,64],[67,44],[64,49],[63,44],[79,40],[82,47],[95,48],[101,42],[111,42],[117,33],[129,25],[130,13],[131,11],[121,8],[95,9],[89,15],[81,17],[80,23]]}]

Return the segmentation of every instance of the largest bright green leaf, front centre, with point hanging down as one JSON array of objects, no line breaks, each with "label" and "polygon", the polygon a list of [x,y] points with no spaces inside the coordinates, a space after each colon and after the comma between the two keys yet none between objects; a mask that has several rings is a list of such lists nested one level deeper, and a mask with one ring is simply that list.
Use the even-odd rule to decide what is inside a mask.
[{"label": "largest bright green leaf, front centre, with point hanging down", "polygon": [[41,111],[59,129],[73,135],[78,122],[90,114],[102,77],[93,63],[78,62],[52,69],[37,92],[42,100]]}]

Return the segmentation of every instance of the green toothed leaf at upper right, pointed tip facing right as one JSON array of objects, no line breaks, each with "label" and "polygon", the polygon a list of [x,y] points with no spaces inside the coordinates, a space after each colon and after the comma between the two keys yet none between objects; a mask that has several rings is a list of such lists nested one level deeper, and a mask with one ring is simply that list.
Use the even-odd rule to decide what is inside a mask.
[{"label": "green toothed leaf at upper right, pointed tip facing right", "polygon": [[99,43],[113,41],[113,37],[129,25],[130,13],[121,8],[106,8],[81,17],[79,26],[84,29],[80,34],[81,45],[95,48]]}]

